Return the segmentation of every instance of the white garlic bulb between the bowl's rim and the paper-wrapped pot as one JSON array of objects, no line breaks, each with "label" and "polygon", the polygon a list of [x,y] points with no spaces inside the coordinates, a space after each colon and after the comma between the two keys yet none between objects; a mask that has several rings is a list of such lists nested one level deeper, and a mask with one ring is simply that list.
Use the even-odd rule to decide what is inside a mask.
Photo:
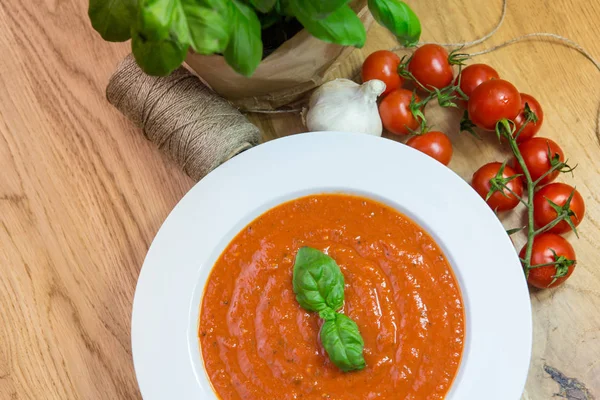
[{"label": "white garlic bulb between the bowl's rim and the paper-wrapped pot", "polygon": [[385,83],[373,79],[359,85],[349,79],[323,84],[310,97],[306,113],[309,131],[339,131],[381,136],[377,97]]}]

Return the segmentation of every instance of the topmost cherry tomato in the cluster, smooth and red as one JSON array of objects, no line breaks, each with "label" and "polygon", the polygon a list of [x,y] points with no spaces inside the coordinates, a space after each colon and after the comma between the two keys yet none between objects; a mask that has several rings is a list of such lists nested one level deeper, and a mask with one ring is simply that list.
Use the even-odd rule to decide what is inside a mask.
[{"label": "topmost cherry tomato in the cluster, smooth and red", "polygon": [[444,88],[452,83],[454,77],[448,52],[437,44],[425,44],[415,50],[408,71],[428,89]]}]

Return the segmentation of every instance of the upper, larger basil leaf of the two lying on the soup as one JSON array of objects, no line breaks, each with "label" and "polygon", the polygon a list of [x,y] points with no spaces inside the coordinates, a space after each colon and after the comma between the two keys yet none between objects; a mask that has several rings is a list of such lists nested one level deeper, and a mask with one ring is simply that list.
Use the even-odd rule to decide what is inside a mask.
[{"label": "upper, larger basil leaf of the two lying on the soup", "polygon": [[298,250],[292,284],[296,300],[307,311],[336,311],[344,304],[344,275],[333,258],[319,250]]}]

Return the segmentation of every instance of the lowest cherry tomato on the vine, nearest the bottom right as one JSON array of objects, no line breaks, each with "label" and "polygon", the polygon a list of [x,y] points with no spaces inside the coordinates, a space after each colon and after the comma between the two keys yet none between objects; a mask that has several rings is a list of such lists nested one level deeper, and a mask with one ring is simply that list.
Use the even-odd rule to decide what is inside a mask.
[{"label": "lowest cherry tomato on the vine, nearest the bottom right", "polygon": [[[543,265],[556,262],[560,264],[534,267],[529,270],[527,282],[540,289],[552,288],[566,281],[575,269],[576,257],[573,246],[562,236],[554,233],[542,233],[533,239],[531,265]],[[519,252],[524,258],[526,246]],[[562,256],[562,257],[561,257]]]}]

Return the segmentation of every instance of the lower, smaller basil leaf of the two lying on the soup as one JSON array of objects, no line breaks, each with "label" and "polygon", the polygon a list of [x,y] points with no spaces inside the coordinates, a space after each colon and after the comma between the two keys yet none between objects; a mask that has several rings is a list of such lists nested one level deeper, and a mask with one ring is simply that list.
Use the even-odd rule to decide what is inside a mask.
[{"label": "lower, smaller basil leaf of the two lying on the soup", "polygon": [[336,314],[335,319],[325,321],[321,327],[321,343],[331,361],[342,371],[365,367],[365,343],[356,323],[344,314]]}]

